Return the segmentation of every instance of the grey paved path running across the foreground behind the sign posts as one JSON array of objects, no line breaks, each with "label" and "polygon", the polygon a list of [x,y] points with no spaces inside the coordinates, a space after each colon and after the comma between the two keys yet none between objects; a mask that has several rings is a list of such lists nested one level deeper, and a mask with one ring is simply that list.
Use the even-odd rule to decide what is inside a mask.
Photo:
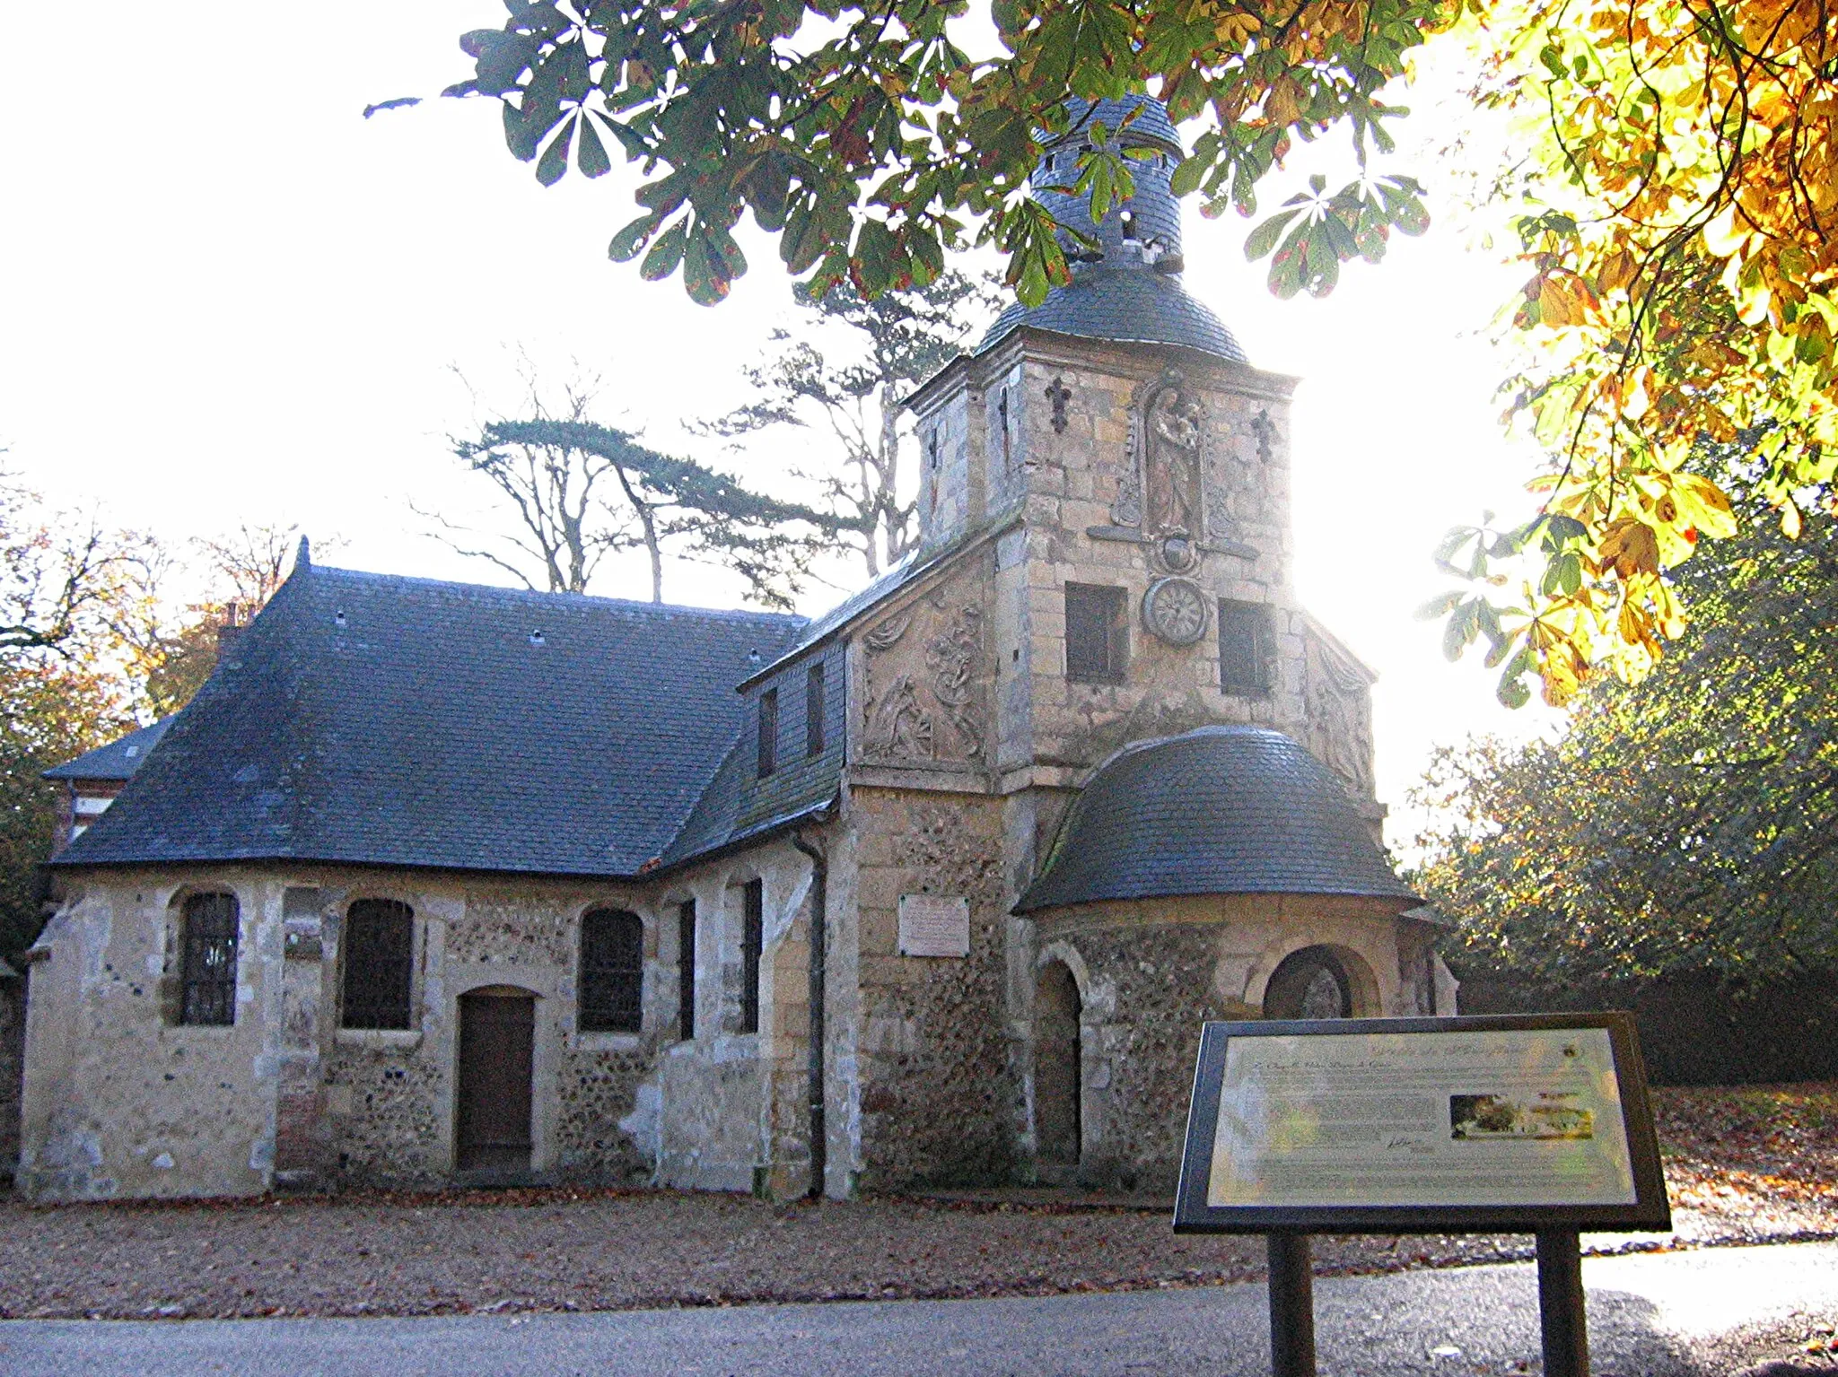
[{"label": "grey paved path running across the foreground behind the sign posts", "polygon": [[[1597,1377],[1709,1377],[1693,1340],[1796,1311],[1838,1315],[1838,1245],[1584,1261]],[[1316,1283],[1322,1377],[1538,1368],[1529,1265]],[[1147,1377],[1268,1373],[1265,1289],[414,1320],[0,1324],[0,1373],[292,1377]],[[1722,1377],[1717,1373],[1715,1377]]]}]

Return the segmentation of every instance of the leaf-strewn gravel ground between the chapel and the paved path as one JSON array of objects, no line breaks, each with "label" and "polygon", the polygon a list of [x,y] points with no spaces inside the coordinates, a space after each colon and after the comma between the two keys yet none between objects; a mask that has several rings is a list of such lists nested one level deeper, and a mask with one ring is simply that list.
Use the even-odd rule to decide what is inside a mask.
[{"label": "leaf-strewn gravel ground between the chapel and the paved path", "polygon": [[[1662,1092],[1674,1237],[1838,1237],[1838,1085]],[[1322,1272],[1529,1258],[1529,1237],[1323,1237]],[[1259,1239],[1044,1193],[774,1206],[680,1192],[0,1204],[0,1316],[439,1315],[1040,1296],[1250,1280]]]}]

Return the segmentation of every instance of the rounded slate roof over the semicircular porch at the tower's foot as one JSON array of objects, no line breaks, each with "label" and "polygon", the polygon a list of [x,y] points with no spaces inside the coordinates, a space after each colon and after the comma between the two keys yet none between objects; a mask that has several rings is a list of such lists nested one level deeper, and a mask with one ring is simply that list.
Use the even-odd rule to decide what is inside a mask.
[{"label": "rounded slate roof over the semicircular porch at the tower's foot", "polygon": [[1015,912],[1180,894],[1421,901],[1340,780],[1265,727],[1200,727],[1112,756]]}]

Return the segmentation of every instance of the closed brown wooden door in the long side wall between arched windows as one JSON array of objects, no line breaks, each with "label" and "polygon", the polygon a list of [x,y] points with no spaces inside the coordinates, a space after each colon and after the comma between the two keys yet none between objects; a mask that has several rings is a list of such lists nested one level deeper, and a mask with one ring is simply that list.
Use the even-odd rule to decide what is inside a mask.
[{"label": "closed brown wooden door in the long side wall between arched windows", "polygon": [[529,1170],[529,1078],[537,997],[460,995],[461,1171]]}]

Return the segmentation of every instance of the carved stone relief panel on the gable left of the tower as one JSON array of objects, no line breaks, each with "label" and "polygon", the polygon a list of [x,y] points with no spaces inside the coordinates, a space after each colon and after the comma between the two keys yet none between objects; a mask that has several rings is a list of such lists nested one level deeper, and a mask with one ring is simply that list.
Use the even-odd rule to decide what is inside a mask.
[{"label": "carved stone relief panel on the gable left of the tower", "polygon": [[862,635],[862,755],[899,766],[983,764],[989,749],[983,610],[941,588]]}]

